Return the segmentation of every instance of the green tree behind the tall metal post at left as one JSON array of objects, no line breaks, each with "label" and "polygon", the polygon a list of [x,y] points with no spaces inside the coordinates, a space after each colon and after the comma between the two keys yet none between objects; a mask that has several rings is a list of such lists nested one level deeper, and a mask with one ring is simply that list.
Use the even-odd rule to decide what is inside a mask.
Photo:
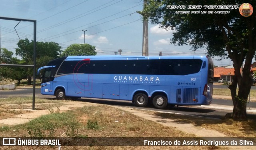
[{"label": "green tree behind the tall metal post at left", "polygon": [[[26,38],[25,40],[20,40],[18,42],[18,47],[16,48],[16,55],[22,58],[24,64],[32,65],[34,56],[34,41],[31,42]],[[36,68],[45,65],[42,61],[50,61],[54,58],[58,58],[62,52],[62,47],[56,42],[36,42],[36,60],[39,63],[36,64]],[[41,66],[42,65],[42,66]],[[26,68],[28,76],[28,85],[31,85],[33,68]]]}]

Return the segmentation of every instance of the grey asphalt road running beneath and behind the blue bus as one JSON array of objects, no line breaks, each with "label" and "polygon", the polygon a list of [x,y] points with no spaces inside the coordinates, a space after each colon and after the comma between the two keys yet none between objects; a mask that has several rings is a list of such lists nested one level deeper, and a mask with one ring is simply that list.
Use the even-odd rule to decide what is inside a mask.
[{"label": "grey asphalt road running beneath and behind the blue bus", "polygon": [[[6,90],[0,91],[0,98],[6,98],[10,96],[32,96],[32,88],[20,88],[18,90]],[[36,97],[38,98],[48,98],[48,99],[55,99],[55,96],[45,96],[40,94],[40,88],[36,88]],[[124,106],[124,107],[131,107],[131,108],[139,108],[145,110],[154,110],[154,111],[162,111],[162,112],[174,112],[174,113],[181,113],[181,114],[188,114],[188,115],[195,115],[195,116],[202,116],[208,118],[222,118],[225,114],[232,112],[230,110],[220,110],[216,108],[198,108],[196,106],[175,106],[175,107],[168,107],[165,110],[159,110],[153,108],[153,106],[148,106],[146,108],[141,108],[135,106],[134,103],[130,101],[124,100],[102,100],[102,99],[92,99],[92,98],[81,98],[78,99],[79,101],[84,102],[92,102],[98,104],[108,104],[108,105],[115,105],[115,106]],[[225,106],[233,106],[232,100],[223,100],[223,99],[213,99],[212,104],[218,104]],[[250,108],[256,108],[256,102],[250,103]],[[248,118],[256,118],[256,114],[248,114]]]}]

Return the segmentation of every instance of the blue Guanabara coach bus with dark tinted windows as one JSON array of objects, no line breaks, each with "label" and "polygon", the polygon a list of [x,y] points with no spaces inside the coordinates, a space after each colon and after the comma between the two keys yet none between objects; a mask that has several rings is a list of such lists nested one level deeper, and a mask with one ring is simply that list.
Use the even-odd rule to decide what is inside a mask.
[{"label": "blue Guanabara coach bus with dark tinted windows", "polygon": [[207,56],[68,56],[42,69],[41,94],[58,100],[130,100],[160,109],[212,102],[214,68]]}]

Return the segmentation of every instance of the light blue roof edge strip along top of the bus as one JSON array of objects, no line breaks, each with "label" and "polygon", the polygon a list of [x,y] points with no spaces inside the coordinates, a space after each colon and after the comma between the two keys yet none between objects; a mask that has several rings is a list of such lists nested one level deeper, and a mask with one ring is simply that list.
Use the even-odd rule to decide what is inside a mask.
[{"label": "light blue roof edge strip along top of the bus", "polygon": [[122,56],[122,55],[102,55],[102,56],[68,56],[66,60],[145,60],[145,59],[206,59],[206,56]]}]

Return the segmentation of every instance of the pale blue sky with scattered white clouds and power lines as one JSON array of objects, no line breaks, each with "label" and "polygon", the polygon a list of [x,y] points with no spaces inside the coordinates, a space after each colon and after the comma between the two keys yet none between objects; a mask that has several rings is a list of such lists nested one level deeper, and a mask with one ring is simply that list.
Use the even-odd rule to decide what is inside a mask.
[{"label": "pale blue sky with scattered white clouds and power lines", "polygon": [[[65,50],[71,44],[96,46],[97,55],[142,56],[143,0],[1,0],[0,16],[36,20],[36,40],[56,42]],[[15,27],[16,26],[16,27]],[[15,31],[15,29],[17,31]],[[86,32],[82,30],[87,30]],[[33,22],[0,20],[1,48],[14,52],[20,39],[34,39]],[[149,56],[206,55],[206,48],[170,44],[172,30],[148,23]],[[18,57],[14,55],[14,57]],[[19,57],[18,57],[19,58]],[[230,60],[215,66],[232,65]]]}]

